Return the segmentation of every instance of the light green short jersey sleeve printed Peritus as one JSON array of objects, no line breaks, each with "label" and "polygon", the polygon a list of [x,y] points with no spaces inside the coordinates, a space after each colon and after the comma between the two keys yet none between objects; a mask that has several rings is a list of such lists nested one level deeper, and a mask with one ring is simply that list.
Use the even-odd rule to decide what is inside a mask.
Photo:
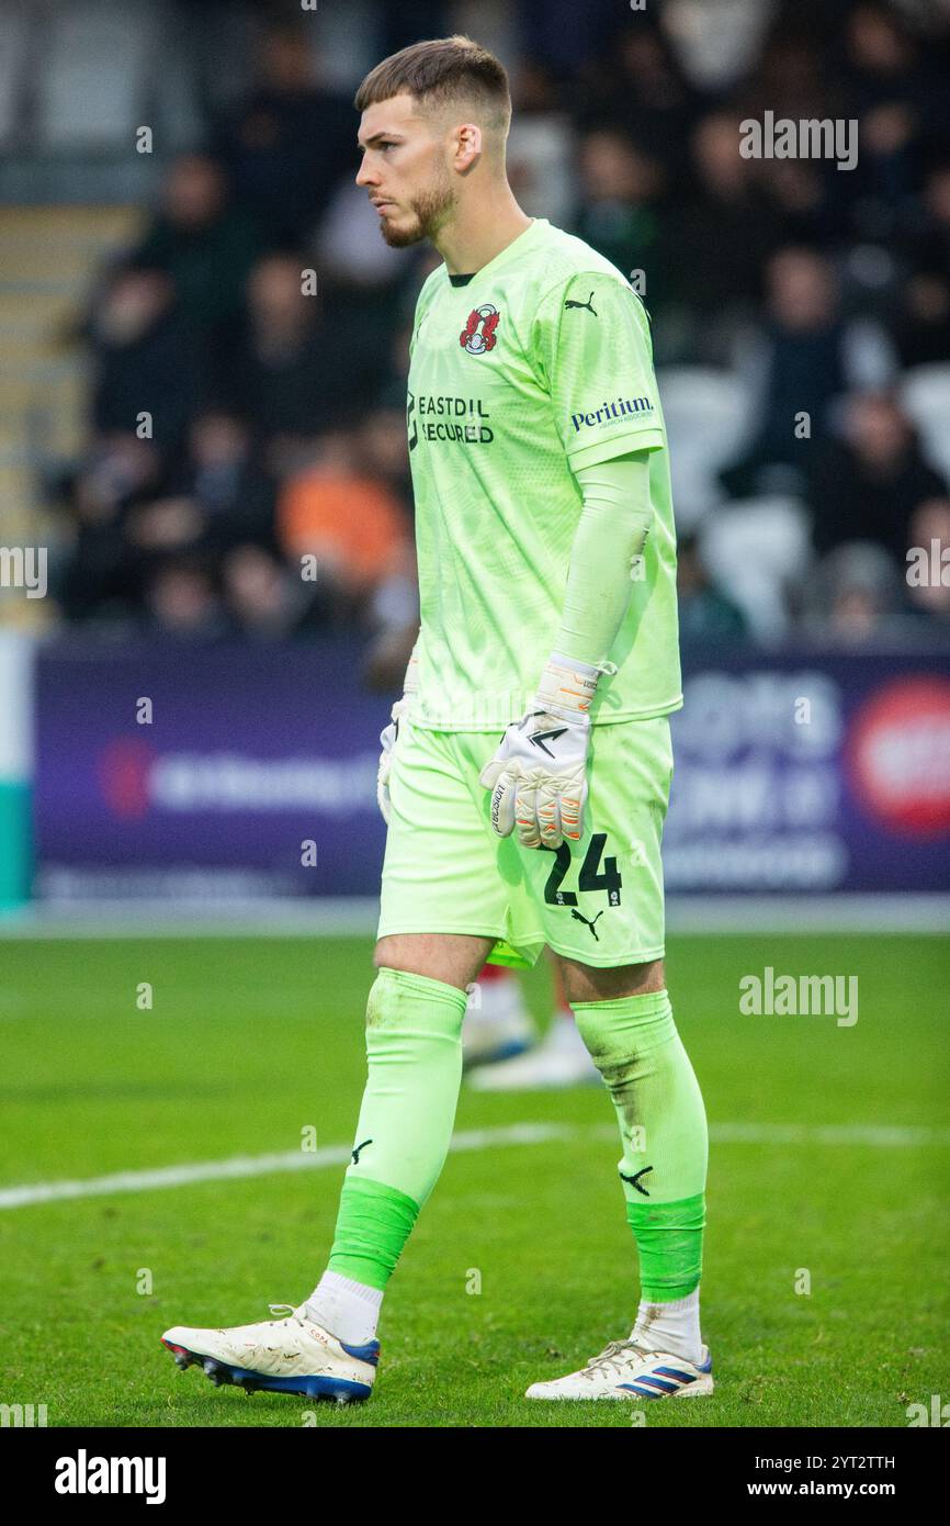
[{"label": "light green short jersey sleeve printed Peritus", "polygon": [[589,270],[558,282],[531,336],[572,468],[663,447],[647,317],[619,275]]}]

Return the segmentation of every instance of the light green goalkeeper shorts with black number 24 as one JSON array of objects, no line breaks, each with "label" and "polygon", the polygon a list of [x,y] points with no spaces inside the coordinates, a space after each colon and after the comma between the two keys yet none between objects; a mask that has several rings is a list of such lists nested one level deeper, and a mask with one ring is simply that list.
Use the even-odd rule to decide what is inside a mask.
[{"label": "light green goalkeeper shorts with black number 24", "polygon": [[499,732],[401,722],[377,937],[493,937],[489,963],[520,969],[544,945],[605,967],[662,958],[669,719],[595,725],[590,737],[583,839],[525,848],[496,835],[491,790],[479,783]]}]

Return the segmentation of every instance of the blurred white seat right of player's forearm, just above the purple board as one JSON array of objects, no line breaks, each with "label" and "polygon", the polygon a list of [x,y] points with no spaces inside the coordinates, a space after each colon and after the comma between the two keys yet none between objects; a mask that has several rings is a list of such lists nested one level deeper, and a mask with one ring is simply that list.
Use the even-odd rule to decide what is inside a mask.
[{"label": "blurred white seat right of player's forearm, just above the purple board", "polygon": [[788,626],[785,589],[811,560],[810,520],[794,497],[750,497],[723,505],[700,528],[709,572],[740,606],[755,636],[776,639]]}]

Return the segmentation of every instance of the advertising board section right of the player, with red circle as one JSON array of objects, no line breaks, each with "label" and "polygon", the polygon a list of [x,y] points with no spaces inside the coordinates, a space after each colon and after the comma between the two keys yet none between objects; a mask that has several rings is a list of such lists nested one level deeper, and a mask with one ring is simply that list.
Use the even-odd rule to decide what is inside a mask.
[{"label": "advertising board section right of the player, with red circle", "polygon": [[950,655],[686,668],[663,835],[676,893],[950,890]]}]

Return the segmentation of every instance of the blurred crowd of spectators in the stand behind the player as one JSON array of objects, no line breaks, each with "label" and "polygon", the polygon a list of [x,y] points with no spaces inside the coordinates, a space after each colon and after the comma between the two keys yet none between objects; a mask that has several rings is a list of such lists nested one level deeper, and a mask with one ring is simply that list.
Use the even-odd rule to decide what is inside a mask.
[{"label": "blurred crowd of spectators in the stand behind the player", "polygon": [[[493,6],[515,195],[650,311],[685,647],[950,633],[950,568],[907,577],[910,548],[950,562],[950,14],[721,9],[732,55],[694,0],[595,0],[579,52],[576,8]],[[406,8],[390,49],[457,11],[428,5],[419,29]],[[253,81],[206,111],[82,316],[88,439],[55,484],[55,594],[98,629],[358,627],[398,652],[418,623],[407,342],[439,256],[383,243],[313,18],[253,20]],[[765,111],[857,121],[855,168],[744,157],[740,124]]]}]

